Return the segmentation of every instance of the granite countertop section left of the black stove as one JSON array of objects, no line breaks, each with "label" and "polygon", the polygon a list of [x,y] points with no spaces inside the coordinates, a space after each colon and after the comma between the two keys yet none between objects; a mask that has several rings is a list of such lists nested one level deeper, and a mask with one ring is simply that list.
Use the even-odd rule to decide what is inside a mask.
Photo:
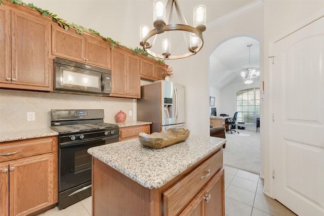
[{"label": "granite countertop section left of the black stove", "polygon": [[57,136],[58,134],[59,134],[58,132],[53,131],[51,128],[37,128],[37,129],[28,129],[22,131],[1,132],[0,143],[15,141],[15,140],[39,138],[39,137]]}]

